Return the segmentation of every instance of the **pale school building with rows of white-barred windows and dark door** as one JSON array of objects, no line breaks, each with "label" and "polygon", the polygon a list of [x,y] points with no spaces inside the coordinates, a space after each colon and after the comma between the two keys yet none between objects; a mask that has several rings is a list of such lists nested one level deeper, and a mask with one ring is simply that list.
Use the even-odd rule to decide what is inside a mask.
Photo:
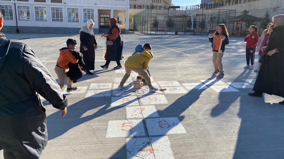
[{"label": "pale school building with rows of white-barred windows and dark door", "polygon": [[0,0],[0,8],[10,33],[79,33],[88,19],[103,33],[113,17],[129,30],[129,0]]}]

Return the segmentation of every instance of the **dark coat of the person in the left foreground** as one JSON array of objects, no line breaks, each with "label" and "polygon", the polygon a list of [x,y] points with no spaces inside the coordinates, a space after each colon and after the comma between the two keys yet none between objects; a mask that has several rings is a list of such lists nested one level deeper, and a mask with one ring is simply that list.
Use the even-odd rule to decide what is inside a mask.
[{"label": "dark coat of the person in the left foreground", "polygon": [[61,110],[67,98],[31,48],[10,42],[0,38],[0,150],[9,147],[37,159],[47,144],[46,114],[37,93]]}]

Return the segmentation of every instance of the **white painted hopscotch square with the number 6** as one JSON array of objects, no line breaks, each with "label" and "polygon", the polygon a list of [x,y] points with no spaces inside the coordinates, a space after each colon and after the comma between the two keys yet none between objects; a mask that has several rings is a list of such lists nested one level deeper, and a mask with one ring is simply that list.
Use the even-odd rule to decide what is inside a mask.
[{"label": "white painted hopscotch square with the number 6", "polygon": [[185,134],[178,117],[145,119],[149,135]]}]

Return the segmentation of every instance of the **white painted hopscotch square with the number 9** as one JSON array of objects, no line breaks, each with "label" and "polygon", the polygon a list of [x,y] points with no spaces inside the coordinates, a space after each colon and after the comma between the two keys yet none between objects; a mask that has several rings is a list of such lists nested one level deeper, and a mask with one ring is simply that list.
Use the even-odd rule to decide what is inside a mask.
[{"label": "white painted hopscotch square with the number 9", "polygon": [[165,95],[149,95],[139,97],[142,105],[167,104]]}]

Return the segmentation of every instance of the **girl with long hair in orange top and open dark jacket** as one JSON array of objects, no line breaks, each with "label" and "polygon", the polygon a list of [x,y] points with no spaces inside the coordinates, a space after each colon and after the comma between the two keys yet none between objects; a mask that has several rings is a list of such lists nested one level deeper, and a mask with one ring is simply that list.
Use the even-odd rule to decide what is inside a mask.
[{"label": "girl with long hair in orange top and open dark jacket", "polygon": [[229,44],[228,35],[229,33],[225,24],[219,24],[216,32],[209,35],[209,41],[212,43],[212,62],[215,68],[213,75],[216,75],[220,72],[217,78],[224,77],[222,57],[225,54],[225,45]]}]

